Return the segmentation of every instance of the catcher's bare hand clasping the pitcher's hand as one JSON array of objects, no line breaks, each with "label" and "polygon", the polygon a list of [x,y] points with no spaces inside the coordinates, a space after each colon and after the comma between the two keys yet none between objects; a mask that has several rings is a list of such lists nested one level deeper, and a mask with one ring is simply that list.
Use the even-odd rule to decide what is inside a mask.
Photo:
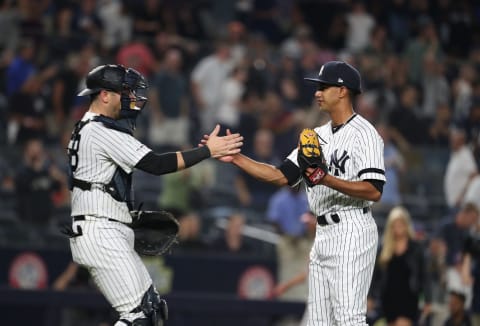
[{"label": "catcher's bare hand clasping the pitcher's hand", "polygon": [[232,134],[227,130],[226,136],[218,136],[220,125],[216,125],[210,135],[204,135],[200,146],[208,146],[211,156],[223,162],[230,162],[232,156],[240,153],[243,145],[243,136],[239,133]]}]

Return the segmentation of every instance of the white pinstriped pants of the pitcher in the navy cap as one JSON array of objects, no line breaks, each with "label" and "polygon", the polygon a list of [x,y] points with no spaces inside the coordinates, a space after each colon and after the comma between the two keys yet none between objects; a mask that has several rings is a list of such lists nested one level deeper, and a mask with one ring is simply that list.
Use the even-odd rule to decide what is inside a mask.
[{"label": "white pinstriped pants of the pitcher in the navy cap", "polygon": [[340,223],[318,226],[310,251],[308,326],[366,324],[367,294],[378,245],[371,213],[338,213]]}]

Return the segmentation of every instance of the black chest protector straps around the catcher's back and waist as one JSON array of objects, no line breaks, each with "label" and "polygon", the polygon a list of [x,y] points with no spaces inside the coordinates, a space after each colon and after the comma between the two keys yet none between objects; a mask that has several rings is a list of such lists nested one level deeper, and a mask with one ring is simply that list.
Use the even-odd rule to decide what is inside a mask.
[{"label": "black chest protector straps around the catcher's back and waist", "polygon": [[[102,122],[103,125],[107,128],[115,129],[120,132],[128,133],[130,135],[132,134],[132,132],[128,128],[125,128],[116,120],[99,115],[95,116],[91,120],[77,122],[77,124],[75,125],[75,129],[72,133],[72,140],[79,139],[80,130],[90,121]],[[68,153],[70,155],[70,148]],[[72,190],[74,187],[77,187],[83,191],[91,191],[93,189],[102,190],[110,194],[112,198],[116,201],[127,203],[130,210],[133,209],[132,174],[126,173],[121,168],[117,168],[117,170],[113,174],[112,179],[107,184],[80,180],[74,178],[73,173],[70,173],[70,190]]]}]

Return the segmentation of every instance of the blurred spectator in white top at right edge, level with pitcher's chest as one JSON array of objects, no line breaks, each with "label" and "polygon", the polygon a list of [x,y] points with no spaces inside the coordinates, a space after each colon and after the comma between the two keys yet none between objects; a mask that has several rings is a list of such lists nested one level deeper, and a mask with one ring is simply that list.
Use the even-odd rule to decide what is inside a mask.
[{"label": "blurred spectator in white top at right edge, level with pitcher's chest", "polygon": [[450,159],[448,160],[443,189],[448,207],[458,208],[471,180],[478,174],[472,150],[466,143],[465,130],[450,129]]}]

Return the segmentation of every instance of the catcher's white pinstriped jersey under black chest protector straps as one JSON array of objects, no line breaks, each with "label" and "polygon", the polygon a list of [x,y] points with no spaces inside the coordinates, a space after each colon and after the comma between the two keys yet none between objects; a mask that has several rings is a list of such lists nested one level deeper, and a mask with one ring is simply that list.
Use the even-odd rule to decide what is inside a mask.
[{"label": "catcher's white pinstriped jersey under black chest protector straps", "polygon": [[[87,112],[82,121],[94,116]],[[151,151],[131,135],[107,128],[97,121],[85,125],[79,134],[79,139],[68,145],[75,153],[71,159],[73,162],[70,162],[76,166],[73,177],[91,183],[108,184],[117,168],[132,173],[135,165]],[[113,199],[102,189],[92,188],[87,191],[73,188],[72,216],[93,215],[131,222],[127,203]]]}]

